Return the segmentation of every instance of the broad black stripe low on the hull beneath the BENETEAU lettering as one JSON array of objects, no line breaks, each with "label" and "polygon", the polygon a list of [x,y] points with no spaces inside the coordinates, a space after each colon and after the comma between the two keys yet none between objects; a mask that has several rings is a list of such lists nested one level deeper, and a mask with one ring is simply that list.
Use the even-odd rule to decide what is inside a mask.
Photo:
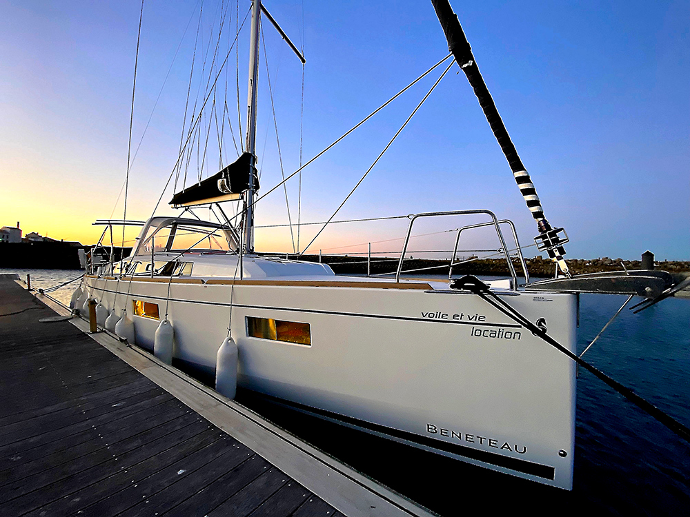
[{"label": "broad black stripe low on the hull beneath the BENETEAU lettering", "polygon": [[360,420],[359,418],[354,418],[352,416],[333,413],[327,411],[326,409],[318,409],[316,407],[311,407],[297,402],[286,401],[284,398],[278,398],[259,392],[253,393],[257,394],[257,396],[260,396],[262,398],[266,398],[270,402],[280,405],[286,405],[293,409],[297,409],[298,411],[311,413],[316,416],[321,416],[323,418],[337,420],[339,422],[346,423],[354,427],[362,428],[366,431],[385,434],[387,436],[392,436],[400,440],[415,443],[416,445],[424,445],[425,447],[431,447],[433,449],[437,449],[443,452],[450,452],[451,454],[457,454],[457,456],[463,456],[464,458],[479,460],[484,463],[495,465],[497,467],[504,467],[506,469],[511,469],[516,472],[522,472],[523,474],[538,476],[540,478],[548,479],[551,481],[553,481],[553,479],[555,478],[555,467],[550,467],[549,465],[541,465],[540,463],[533,463],[527,460],[520,460],[518,458],[511,458],[509,456],[501,456],[500,454],[495,454],[493,452],[482,451],[480,449],[473,449],[472,447],[466,447],[465,445],[457,445],[454,443],[446,442],[444,440],[437,440],[436,438],[422,436],[420,434],[402,431],[400,429],[395,429],[393,427],[386,427],[385,425],[371,423],[367,420]]}]

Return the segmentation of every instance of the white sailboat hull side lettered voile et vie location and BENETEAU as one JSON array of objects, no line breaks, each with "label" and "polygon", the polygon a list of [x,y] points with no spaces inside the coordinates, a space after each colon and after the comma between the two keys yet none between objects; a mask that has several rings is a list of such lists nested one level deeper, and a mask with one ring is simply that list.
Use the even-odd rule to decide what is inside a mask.
[{"label": "white sailboat hull side lettered voile et vie location and BENETEAU", "polygon": [[[170,285],[169,278],[134,277],[119,286],[108,278],[89,277],[87,285],[109,310],[116,289],[116,310],[127,307],[128,314],[139,300],[159,305],[163,318],[169,300],[175,358],[213,372],[228,334],[232,276],[175,278]],[[575,364],[569,358],[447,283],[402,289],[342,276],[286,279],[235,283],[239,386],[416,447],[571,489]],[[531,321],[545,318],[549,334],[575,352],[575,295],[496,292]],[[308,323],[311,345],[248,337],[246,316]],[[137,344],[152,349],[159,321],[133,320]]]}]

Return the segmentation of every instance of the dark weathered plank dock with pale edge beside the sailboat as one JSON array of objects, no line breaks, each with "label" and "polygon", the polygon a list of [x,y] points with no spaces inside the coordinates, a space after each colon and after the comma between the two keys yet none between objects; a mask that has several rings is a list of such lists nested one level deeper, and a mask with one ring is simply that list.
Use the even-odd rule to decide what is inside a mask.
[{"label": "dark weathered plank dock with pale edge beside the sailboat", "polygon": [[56,312],[0,276],[1,516],[431,515]]}]

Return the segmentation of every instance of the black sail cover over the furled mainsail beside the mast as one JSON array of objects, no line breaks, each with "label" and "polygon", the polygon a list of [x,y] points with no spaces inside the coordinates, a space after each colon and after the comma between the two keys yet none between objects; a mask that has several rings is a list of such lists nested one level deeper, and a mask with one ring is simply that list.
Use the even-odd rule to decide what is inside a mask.
[{"label": "black sail cover over the furled mainsail beside the mast", "polygon": [[259,176],[255,163],[256,157],[250,152],[245,152],[217,174],[177,192],[172,196],[170,205],[177,208],[239,199],[240,194],[249,188],[250,168],[254,174],[254,190],[259,190]]}]

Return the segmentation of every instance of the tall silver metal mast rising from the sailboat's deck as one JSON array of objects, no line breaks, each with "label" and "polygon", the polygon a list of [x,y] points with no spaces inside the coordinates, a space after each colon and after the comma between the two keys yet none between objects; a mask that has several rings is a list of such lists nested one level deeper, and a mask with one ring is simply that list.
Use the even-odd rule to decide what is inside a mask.
[{"label": "tall silver metal mast rising from the sailboat's deck", "polygon": [[254,251],[254,171],[256,165],[257,82],[259,79],[259,30],[261,26],[261,0],[252,0],[252,30],[249,49],[249,86],[247,92],[247,141],[250,153],[249,189],[247,190],[247,216],[244,227],[244,249]]}]

